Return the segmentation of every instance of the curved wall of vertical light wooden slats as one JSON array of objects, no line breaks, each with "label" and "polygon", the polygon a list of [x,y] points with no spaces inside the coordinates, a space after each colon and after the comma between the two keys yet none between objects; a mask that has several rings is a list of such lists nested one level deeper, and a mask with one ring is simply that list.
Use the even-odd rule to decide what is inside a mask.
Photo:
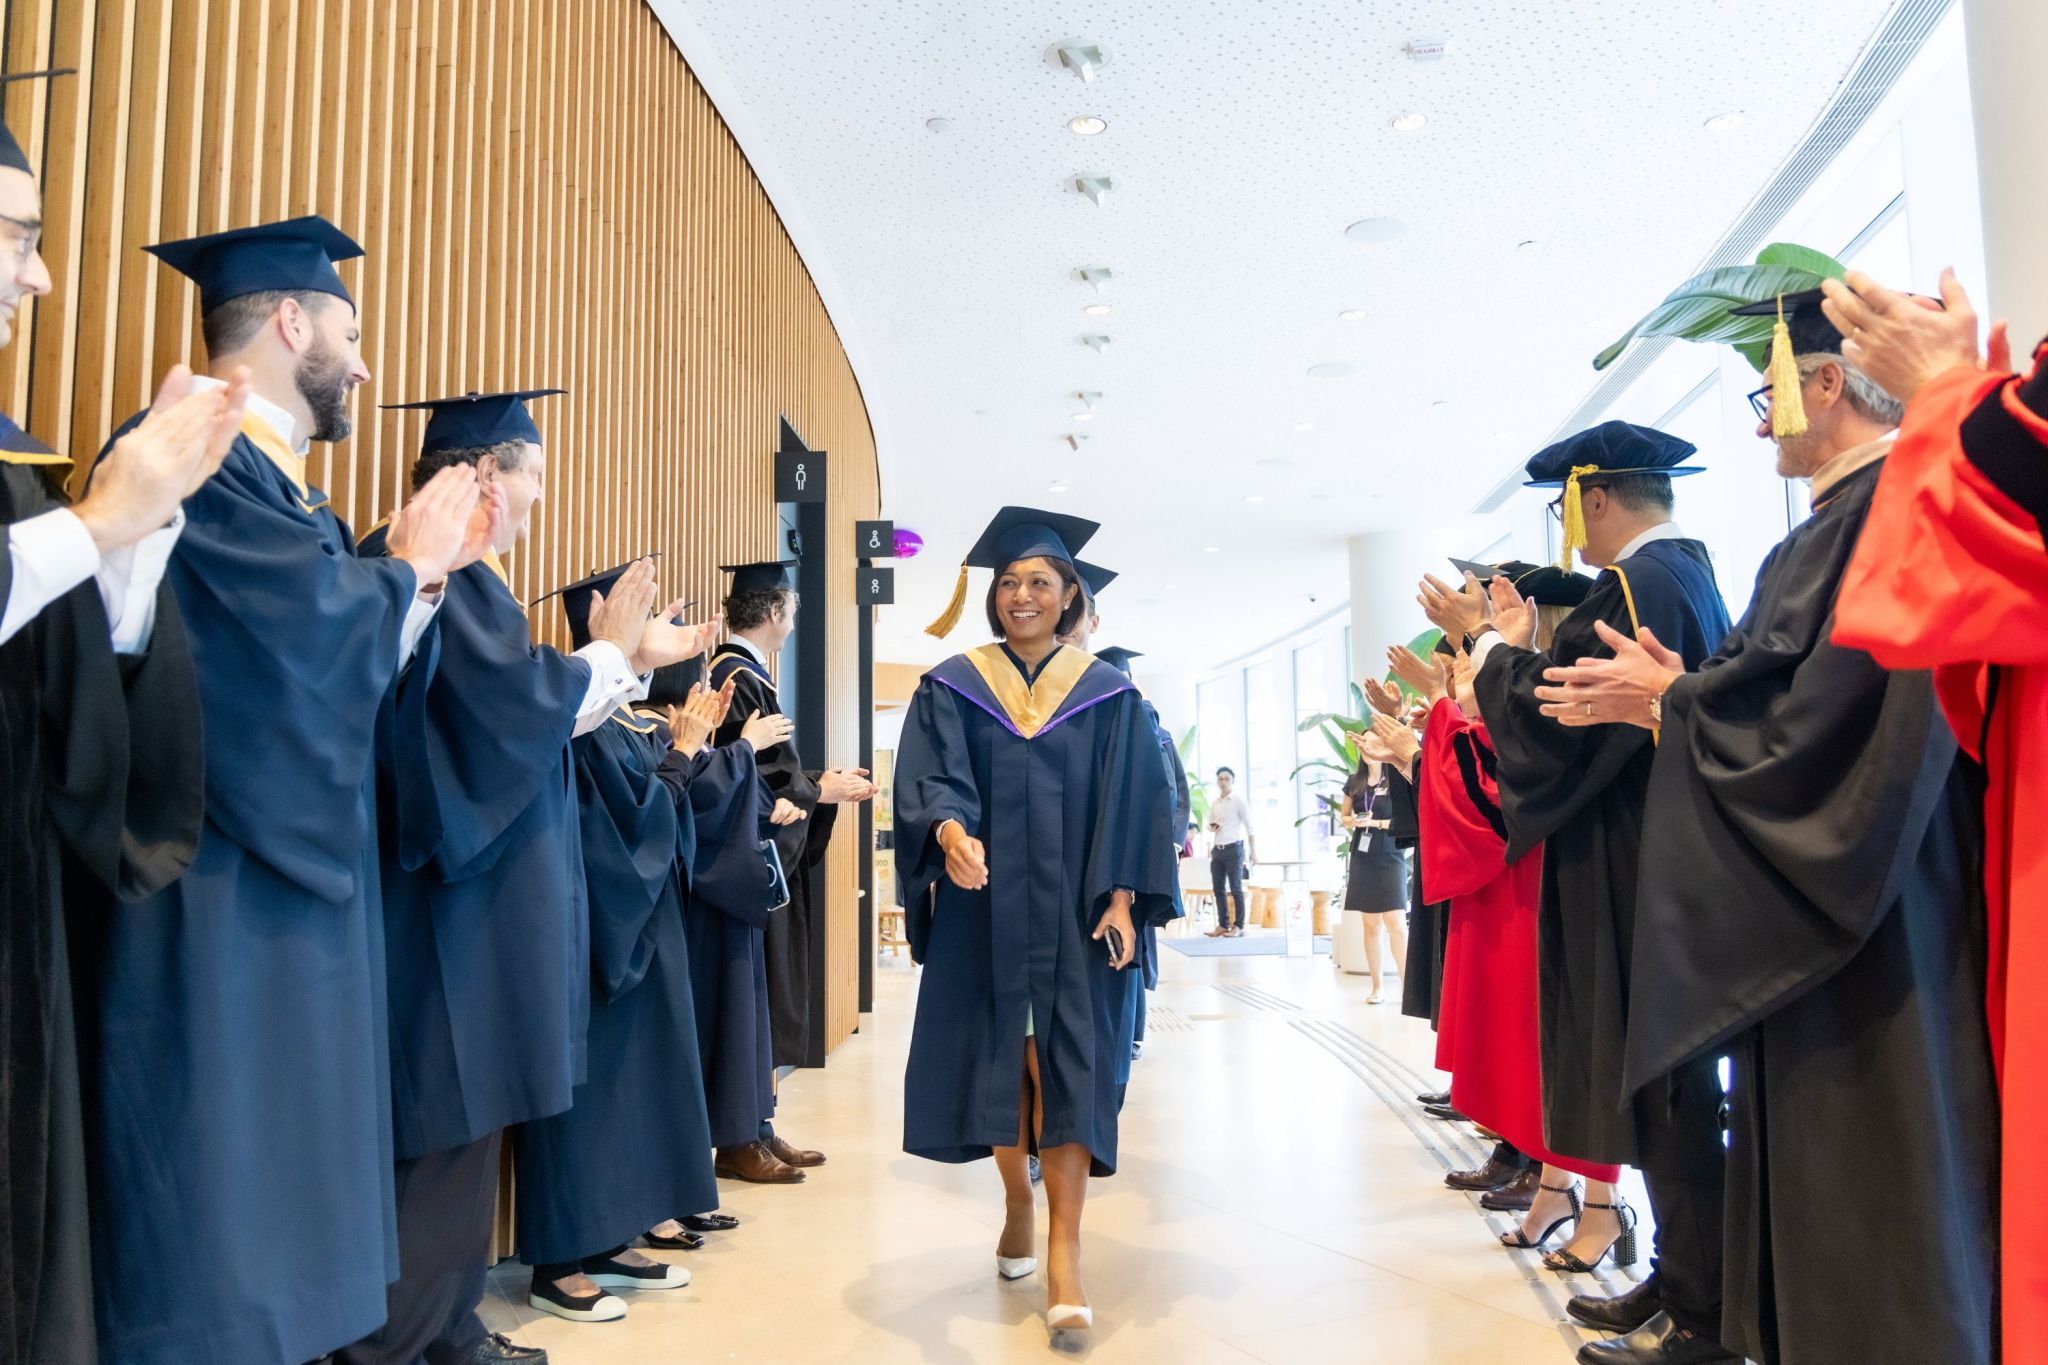
[{"label": "curved wall of vertical light wooden slats", "polygon": [[[831,452],[827,653],[813,763],[852,763],[852,522],[877,516],[852,366],[774,207],[641,0],[10,0],[6,88],[39,166],[55,295],[0,354],[0,409],[90,456],[174,360],[201,356],[190,287],[141,248],[324,213],[369,250],[342,268],[373,379],[311,479],[356,528],[406,485],[422,413],[467,389],[535,405],[549,493],[512,561],[532,600],[662,551],[702,610],[715,565],[776,551],[786,415]],[[561,643],[559,612],[535,630]],[[856,1023],[852,839],[834,841],[829,1038]]]}]

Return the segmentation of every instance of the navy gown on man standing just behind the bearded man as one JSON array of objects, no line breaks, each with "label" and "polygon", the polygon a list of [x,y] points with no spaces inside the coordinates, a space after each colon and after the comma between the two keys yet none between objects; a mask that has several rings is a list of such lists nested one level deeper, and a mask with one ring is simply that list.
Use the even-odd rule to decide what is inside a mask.
[{"label": "navy gown on man standing just behind the bearded man", "polygon": [[590,665],[532,643],[496,561],[449,575],[436,634],[379,802],[399,1160],[567,1109],[590,1023],[569,765]]}]

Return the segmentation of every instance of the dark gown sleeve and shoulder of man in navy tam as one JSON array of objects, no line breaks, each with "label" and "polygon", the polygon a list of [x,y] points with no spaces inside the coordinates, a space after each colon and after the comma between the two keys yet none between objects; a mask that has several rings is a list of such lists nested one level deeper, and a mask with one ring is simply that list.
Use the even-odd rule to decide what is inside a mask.
[{"label": "dark gown sleeve and shoulder of man in navy tam", "polygon": [[1696,591],[1688,591],[1657,559],[1636,555],[1628,559],[1626,573],[1626,589],[1612,569],[1599,575],[1585,602],[1559,624],[1548,653],[1499,645],[1473,684],[1499,755],[1507,862],[1518,862],[1569,825],[1651,745],[1649,731],[1636,726],[1573,729],[1542,714],[1536,688],[1544,686],[1544,669],[1612,657],[1614,651],[1593,630],[1595,622],[1622,634],[1649,626],[1659,641],[1686,655],[1688,667],[1698,667],[1726,628],[1720,600],[1696,602]]}]

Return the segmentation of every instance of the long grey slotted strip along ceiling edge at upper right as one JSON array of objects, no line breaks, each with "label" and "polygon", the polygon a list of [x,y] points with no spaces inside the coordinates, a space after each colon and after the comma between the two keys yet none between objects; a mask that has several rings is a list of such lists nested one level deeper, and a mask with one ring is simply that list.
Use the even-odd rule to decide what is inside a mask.
[{"label": "long grey slotted strip along ceiling edge at upper right", "polygon": [[[1749,203],[1749,209],[1722,235],[1714,250],[1708,252],[1706,260],[1688,270],[1683,278],[1692,278],[1714,266],[1739,266],[1755,258],[1757,250],[1769,239],[1772,229],[1792,213],[1794,205],[1833,164],[1835,156],[1862,131],[1890,88],[1898,84],[1898,78],[1954,4],[1956,0],[1901,0],[1898,8],[1892,10],[1892,16],[1864,49],[1864,55],[1858,57],[1855,68],[1841,82],[1835,98],[1815,119],[1806,139],[1786,158],[1772,182]],[[1690,346],[1692,342],[1686,344]],[[1628,354],[1599,377],[1585,399],[1571,409],[1571,415],[1542,444],[1548,446],[1593,426],[1671,346],[1673,338],[1649,338],[1630,346]],[[1520,487],[1522,463],[1518,460],[1473,512],[1499,510]]]}]

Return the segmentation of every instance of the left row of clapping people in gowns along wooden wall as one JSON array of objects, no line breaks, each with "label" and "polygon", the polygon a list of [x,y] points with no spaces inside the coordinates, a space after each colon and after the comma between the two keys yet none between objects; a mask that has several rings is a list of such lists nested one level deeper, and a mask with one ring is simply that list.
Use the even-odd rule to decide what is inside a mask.
[{"label": "left row of clapping people in gowns along wooden wall", "polygon": [[[0,344],[51,291],[0,131]],[[770,661],[788,563],[737,565],[729,641],[655,561],[559,589],[502,565],[547,450],[518,391],[430,411],[358,544],[307,485],[350,432],[362,319],[319,217],[150,248],[199,291],[172,370],[66,497],[0,417],[0,1359],[543,1361],[485,1332],[500,1144],[530,1304],[627,1312],[799,1183],[801,1062],[838,802]],[[555,596],[555,593],[551,593]]]}]

